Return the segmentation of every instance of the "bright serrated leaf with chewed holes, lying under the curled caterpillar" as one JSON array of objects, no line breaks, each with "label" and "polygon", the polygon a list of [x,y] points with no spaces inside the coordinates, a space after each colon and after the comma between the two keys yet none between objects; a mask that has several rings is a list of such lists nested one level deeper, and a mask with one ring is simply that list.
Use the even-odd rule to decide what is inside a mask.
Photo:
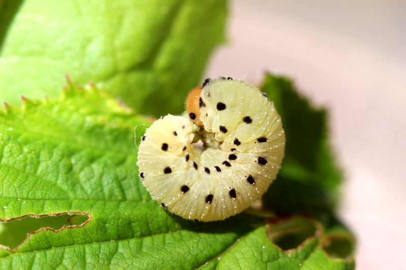
[{"label": "bright serrated leaf with chewed holes, lying under the curled caterpillar", "polygon": [[[93,87],[70,85],[44,102],[23,99],[22,109],[7,105],[0,113],[0,221],[90,219],[59,230],[32,225],[36,232],[16,249],[0,246],[0,268],[353,268],[353,239],[335,221],[259,212],[205,223],[165,211],[136,167],[134,127],[139,144],[149,124]],[[333,241],[343,239],[350,246]]]}]

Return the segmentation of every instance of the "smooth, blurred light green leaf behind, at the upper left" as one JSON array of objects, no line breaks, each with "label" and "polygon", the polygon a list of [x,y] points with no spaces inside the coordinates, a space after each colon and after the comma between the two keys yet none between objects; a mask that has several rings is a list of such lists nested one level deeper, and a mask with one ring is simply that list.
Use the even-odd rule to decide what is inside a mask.
[{"label": "smooth, blurred light green leaf behind, at the upper left", "polygon": [[225,17],[225,0],[2,0],[0,101],[57,97],[69,74],[143,113],[180,113]]}]

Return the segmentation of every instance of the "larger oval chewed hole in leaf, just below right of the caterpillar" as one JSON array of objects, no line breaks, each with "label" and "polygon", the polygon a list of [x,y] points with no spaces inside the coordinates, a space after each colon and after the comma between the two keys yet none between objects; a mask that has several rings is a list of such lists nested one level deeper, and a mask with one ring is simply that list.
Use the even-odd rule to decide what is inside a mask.
[{"label": "larger oval chewed hole in leaf, just below right of the caterpillar", "polygon": [[320,226],[315,220],[293,217],[276,221],[269,225],[269,239],[282,250],[297,248],[306,239],[320,234]]}]

